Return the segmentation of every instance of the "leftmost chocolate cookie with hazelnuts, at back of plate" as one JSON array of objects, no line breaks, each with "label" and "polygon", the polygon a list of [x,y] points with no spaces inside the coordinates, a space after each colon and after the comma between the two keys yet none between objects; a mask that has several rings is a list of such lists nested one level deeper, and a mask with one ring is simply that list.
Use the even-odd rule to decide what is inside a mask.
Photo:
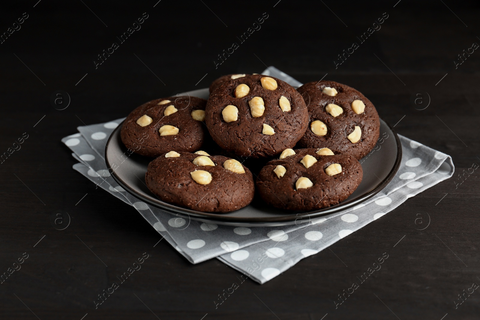
[{"label": "leftmost chocolate cookie with hazelnuts, at back of plate", "polygon": [[123,122],[121,141],[137,154],[159,156],[170,150],[196,151],[208,136],[206,100],[176,96],[149,101]]}]

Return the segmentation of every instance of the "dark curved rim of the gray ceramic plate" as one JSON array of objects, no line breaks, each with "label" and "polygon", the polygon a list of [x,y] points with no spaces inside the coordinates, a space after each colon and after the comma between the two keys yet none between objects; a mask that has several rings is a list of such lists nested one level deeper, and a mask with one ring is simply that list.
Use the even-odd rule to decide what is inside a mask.
[{"label": "dark curved rim of the gray ceramic plate", "polygon": [[[379,119],[381,119],[381,118],[379,118]],[[155,206],[156,208],[162,209],[162,210],[164,210],[164,211],[166,211],[170,214],[174,214],[176,216],[183,215],[183,217],[188,216],[189,218],[192,218],[194,220],[200,220],[200,221],[205,221],[205,222],[216,222],[218,224],[224,224],[224,225],[245,225],[245,224],[251,224],[251,225],[270,224],[270,225],[272,225],[272,224],[275,224],[275,223],[285,225],[285,224],[288,224],[289,222],[291,223],[292,221],[294,221],[296,223],[296,221],[298,219],[302,220],[302,219],[307,218],[307,217],[309,219],[318,218],[318,217],[322,217],[324,215],[337,213],[339,211],[343,211],[345,209],[351,208],[351,207],[353,207],[354,205],[356,205],[360,202],[363,202],[363,201],[366,201],[366,200],[370,199],[371,197],[373,197],[374,195],[379,193],[381,190],[383,190],[385,188],[385,186],[390,181],[392,181],[392,179],[395,177],[396,172],[398,171],[398,168],[400,167],[400,163],[402,161],[402,145],[401,145],[401,142],[400,142],[400,138],[398,138],[398,135],[396,134],[393,127],[388,122],[386,122],[384,119],[381,119],[381,120],[392,131],[392,133],[395,137],[395,141],[396,141],[396,149],[397,149],[396,150],[396,159],[395,159],[394,166],[392,167],[392,169],[390,170],[388,175],[375,188],[366,192],[365,194],[363,194],[359,198],[352,199],[352,200],[348,201],[347,203],[340,202],[336,205],[333,205],[333,206],[330,206],[330,207],[327,207],[327,208],[318,209],[318,210],[313,211],[313,212],[296,213],[297,211],[291,211],[291,214],[286,214],[284,216],[275,216],[275,217],[232,217],[232,216],[222,215],[222,213],[207,213],[207,212],[194,211],[192,209],[182,208],[180,206],[176,206],[176,205],[173,205],[171,203],[161,201],[160,199],[158,199],[158,200],[163,202],[163,204],[155,202],[155,201],[151,201],[150,199],[145,198],[142,194],[138,193],[136,190],[132,189],[126,182],[124,182],[117,175],[117,173],[113,169],[111,170],[112,171],[111,176],[115,179],[115,181],[117,181],[117,183],[123,189],[125,189],[127,192],[131,193],[135,197],[140,198],[142,201],[146,201],[149,204],[152,204],[153,206]],[[112,141],[112,138],[117,133],[117,131],[121,130],[121,127],[122,127],[124,121],[125,120],[120,122],[120,124],[117,126],[117,128],[115,128],[112,131],[112,133],[110,134],[110,136],[108,137],[108,141],[107,141],[107,144],[105,146],[105,164],[107,165],[107,168],[111,168],[111,166],[109,164],[109,161],[108,161],[108,146],[110,145],[110,142]],[[119,138],[120,138],[120,133],[117,133],[117,134],[119,135]]]}]

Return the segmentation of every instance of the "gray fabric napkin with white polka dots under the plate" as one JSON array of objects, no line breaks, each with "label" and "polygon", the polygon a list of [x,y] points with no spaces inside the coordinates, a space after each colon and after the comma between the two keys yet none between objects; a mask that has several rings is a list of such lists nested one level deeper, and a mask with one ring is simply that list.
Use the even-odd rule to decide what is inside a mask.
[{"label": "gray fabric napkin with white polka dots under the plate", "polygon": [[[301,83],[274,67],[263,74],[298,86]],[[403,158],[395,178],[377,195],[353,208],[296,225],[234,227],[184,219],[149,205],[126,192],[110,176],[105,146],[123,119],[78,127],[62,139],[79,161],[73,169],[120,200],[132,205],[181,255],[192,263],[217,258],[263,284],[301,259],[315,254],[392,211],[408,198],[452,177],[447,154],[399,136]],[[218,301],[220,303],[220,301]]]}]

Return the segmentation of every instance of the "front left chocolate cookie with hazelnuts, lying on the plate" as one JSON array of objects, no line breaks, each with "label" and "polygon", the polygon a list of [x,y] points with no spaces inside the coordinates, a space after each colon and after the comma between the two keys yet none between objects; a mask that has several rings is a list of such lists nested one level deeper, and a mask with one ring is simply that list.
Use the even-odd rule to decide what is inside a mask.
[{"label": "front left chocolate cookie with hazelnuts, lying on the plate", "polygon": [[160,200],[202,212],[230,212],[248,205],[252,173],[222,155],[170,151],[148,165],[145,183]]}]

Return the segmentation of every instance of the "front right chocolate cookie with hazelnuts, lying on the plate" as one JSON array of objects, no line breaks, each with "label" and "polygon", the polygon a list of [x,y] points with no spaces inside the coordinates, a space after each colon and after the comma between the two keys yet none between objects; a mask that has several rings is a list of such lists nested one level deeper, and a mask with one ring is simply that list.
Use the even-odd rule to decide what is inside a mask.
[{"label": "front right chocolate cookie with hazelnuts, lying on the plate", "polygon": [[360,185],[363,171],[355,157],[328,148],[287,149],[260,170],[257,190],[268,204],[310,211],[338,204]]}]

